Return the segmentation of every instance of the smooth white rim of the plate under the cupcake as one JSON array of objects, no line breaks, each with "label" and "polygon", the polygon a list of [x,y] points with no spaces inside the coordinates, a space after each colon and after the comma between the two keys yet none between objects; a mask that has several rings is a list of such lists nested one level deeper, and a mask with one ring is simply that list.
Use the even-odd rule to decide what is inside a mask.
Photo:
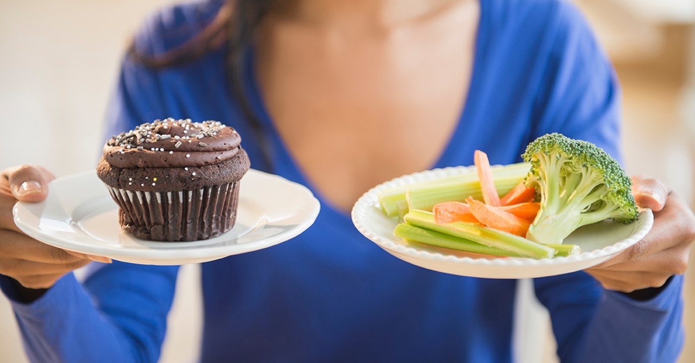
[{"label": "smooth white rim of the plate under the cupcake", "polygon": [[[86,253],[90,255],[99,255],[99,256],[105,256],[105,257],[111,257],[114,260],[119,260],[122,258],[128,258],[128,259],[133,259],[133,260],[149,260],[149,261],[157,261],[157,262],[167,262],[167,261],[182,261],[182,260],[200,260],[200,259],[206,259],[206,258],[224,258],[229,255],[238,255],[241,253],[248,253],[252,251],[259,251],[263,248],[268,248],[271,246],[275,246],[277,244],[280,244],[282,242],[286,242],[289,239],[292,239],[294,237],[297,237],[297,235],[300,235],[301,233],[304,232],[307,228],[309,228],[313,223],[316,221],[316,218],[318,217],[318,214],[320,212],[320,202],[318,199],[316,199],[316,196],[313,195],[311,190],[307,188],[304,185],[301,185],[299,183],[295,183],[291,180],[288,180],[286,178],[283,178],[281,176],[277,176],[275,174],[270,174],[266,173],[265,171],[259,171],[256,169],[249,169],[246,175],[254,175],[256,177],[260,178],[273,178],[280,180],[282,183],[289,183],[289,185],[292,185],[293,187],[297,188],[295,192],[301,191],[303,194],[306,195],[306,209],[309,212],[307,214],[306,218],[301,223],[297,223],[293,228],[284,231],[283,233],[279,233],[277,235],[272,235],[270,237],[265,237],[262,239],[259,239],[257,241],[254,241],[252,243],[247,243],[247,244],[236,244],[236,245],[230,245],[234,246],[234,251],[233,253],[229,253],[230,246],[211,246],[207,248],[186,248],[186,249],[177,249],[177,248],[172,248],[172,249],[167,249],[165,251],[156,251],[155,253],[165,253],[165,257],[163,258],[157,258],[156,256],[152,256],[153,250],[151,249],[129,249],[129,248],[119,248],[119,247],[113,247],[113,246],[108,246],[108,245],[103,245],[103,244],[95,244],[95,245],[88,245],[88,244],[79,244],[79,246],[76,246],[75,242],[70,241],[70,239],[63,238],[60,236],[56,235],[51,235],[48,233],[44,233],[40,228],[37,226],[33,226],[31,224],[25,223],[25,221],[22,219],[22,209],[24,209],[26,212],[28,211],[27,205],[32,205],[34,207],[41,205],[42,203],[46,203],[45,201],[42,201],[40,203],[26,203],[26,202],[17,202],[13,206],[13,221],[15,222],[15,225],[19,230],[22,230],[22,232],[26,233],[29,237],[32,237],[34,239],[38,239],[41,242],[44,242],[45,244],[49,244],[50,246],[54,246],[56,248],[62,248],[67,251],[74,251],[78,253]],[[68,180],[71,179],[76,179],[79,180],[80,178],[85,178],[85,177],[94,177],[97,178],[96,171],[81,171],[78,173],[74,174],[68,174],[65,176],[60,176],[58,178],[55,178],[54,180],[51,180],[49,182],[49,190],[51,185],[55,185],[56,183],[66,183]],[[108,196],[108,193],[106,190],[104,191],[105,195]],[[117,205],[114,203],[113,208],[117,208]],[[39,219],[41,217],[38,217]],[[68,219],[66,222],[74,223],[74,220]],[[71,228],[74,230],[74,227],[71,226]],[[75,232],[77,233],[77,232]],[[227,232],[229,233],[229,232]],[[87,233],[82,233],[83,236],[89,236]],[[216,236],[214,238],[218,237],[223,237],[223,235]],[[95,237],[89,236],[92,239],[97,239]],[[138,239],[134,236],[130,236],[132,239],[143,241],[143,242],[153,242],[149,241],[147,239]],[[172,244],[179,244],[181,243],[182,246],[185,246],[186,242],[162,242],[162,243],[172,243]],[[85,246],[86,248],[81,248],[81,246]],[[75,248],[77,247],[77,248]],[[204,247],[204,246],[201,246]],[[186,262],[182,262],[186,263]],[[179,264],[179,263],[177,263]]]}]

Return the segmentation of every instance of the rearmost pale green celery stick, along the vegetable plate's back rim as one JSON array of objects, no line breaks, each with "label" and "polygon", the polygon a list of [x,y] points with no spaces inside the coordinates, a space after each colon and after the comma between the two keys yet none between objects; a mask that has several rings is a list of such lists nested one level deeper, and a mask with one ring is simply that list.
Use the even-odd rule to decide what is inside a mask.
[{"label": "rearmost pale green celery stick, along the vegetable plate's back rim", "polygon": [[[526,162],[519,162],[517,164],[504,165],[502,167],[492,168],[492,177],[495,179],[495,184],[497,185],[498,179],[516,178],[517,183],[523,180],[523,178],[528,174],[529,169],[531,169],[531,164]],[[475,170],[470,173],[461,174],[457,176],[447,176],[444,178],[430,180],[426,182],[414,183],[410,185],[403,185],[401,187],[393,187],[379,192],[379,204],[382,206],[384,213],[389,217],[398,215],[398,201],[405,201],[405,194],[409,190],[416,190],[418,192],[423,192],[427,194],[428,190],[436,189],[457,189],[470,187],[467,183],[477,182],[477,174]],[[478,194],[480,194],[480,185],[477,186]],[[500,190],[498,187],[498,192],[500,194],[507,194],[508,190]],[[465,199],[465,197],[464,197]]]}]

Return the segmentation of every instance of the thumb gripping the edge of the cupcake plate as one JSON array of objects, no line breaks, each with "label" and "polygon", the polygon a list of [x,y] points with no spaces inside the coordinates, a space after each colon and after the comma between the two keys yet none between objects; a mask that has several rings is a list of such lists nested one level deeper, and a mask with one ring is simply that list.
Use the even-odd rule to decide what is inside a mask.
[{"label": "thumb gripping the edge of the cupcake plate", "polygon": [[3,174],[8,178],[15,199],[30,203],[44,201],[48,195],[48,182],[56,178],[46,169],[31,165],[20,165]]}]

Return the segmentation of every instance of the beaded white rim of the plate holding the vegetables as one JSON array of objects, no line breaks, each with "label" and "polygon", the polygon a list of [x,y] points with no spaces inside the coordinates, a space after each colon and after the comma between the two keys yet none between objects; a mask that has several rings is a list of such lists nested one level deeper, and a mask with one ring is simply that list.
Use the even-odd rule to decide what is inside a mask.
[{"label": "beaded white rim of the plate holding the vegetables", "polygon": [[[503,166],[504,165],[495,164],[492,165],[491,168],[499,168]],[[605,246],[604,248],[596,249],[594,251],[582,251],[582,253],[578,255],[557,258],[543,258],[540,260],[535,260],[533,258],[477,258],[467,256],[444,255],[439,252],[418,250],[409,246],[404,246],[402,244],[396,244],[395,242],[391,241],[391,239],[386,239],[381,235],[378,235],[377,233],[373,233],[372,230],[370,230],[363,223],[361,223],[368,208],[378,208],[375,207],[375,205],[379,204],[377,193],[383,189],[389,189],[391,187],[401,187],[412,183],[418,183],[420,181],[434,180],[436,178],[468,174],[471,172],[475,172],[475,165],[443,167],[424,171],[417,171],[415,173],[405,174],[403,176],[399,176],[398,178],[387,180],[384,183],[372,187],[367,192],[362,194],[362,196],[360,196],[359,199],[357,199],[357,202],[354,203],[354,206],[352,207],[352,211],[350,213],[352,217],[352,223],[364,237],[367,237],[372,242],[386,250],[397,251],[405,255],[409,255],[415,258],[424,258],[427,260],[452,262],[456,264],[500,267],[550,266],[560,264],[571,264],[572,262],[582,262],[587,260],[598,260],[600,258],[604,258],[606,256],[610,256],[615,253],[621,252],[626,248],[632,246],[633,244],[636,244],[642,238],[644,238],[644,236],[651,230],[654,223],[654,216],[652,210],[649,208],[639,208],[639,219],[644,218],[645,221],[641,228],[635,230],[635,232],[632,233],[630,237],[616,242],[614,244],[611,244],[610,246]]]}]

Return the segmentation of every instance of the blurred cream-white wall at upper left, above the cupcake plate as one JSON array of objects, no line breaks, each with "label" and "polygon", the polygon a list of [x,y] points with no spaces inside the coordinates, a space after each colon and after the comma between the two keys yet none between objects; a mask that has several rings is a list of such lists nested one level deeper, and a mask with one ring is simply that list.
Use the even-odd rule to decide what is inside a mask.
[{"label": "blurred cream-white wall at upper left, above the cupcake plate", "polygon": [[121,54],[144,17],[173,2],[0,0],[0,167],[94,168]]}]

